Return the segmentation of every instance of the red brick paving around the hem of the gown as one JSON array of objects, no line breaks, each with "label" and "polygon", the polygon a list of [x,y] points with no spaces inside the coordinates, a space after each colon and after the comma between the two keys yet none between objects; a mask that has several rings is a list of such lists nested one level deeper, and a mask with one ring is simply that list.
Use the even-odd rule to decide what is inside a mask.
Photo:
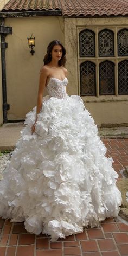
[{"label": "red brick paving around the hem of the gown", "polygon": [[[104,139],[107,156],[119,170],[128,165],[128,139]],[[128,223],[127,223],[128,224]],[[83,233],[50,242],[45,235],[29,234],[23,223],[0,219],[0,256],[128,256],[128,225],[109,218],[100,228],[87,228]]]}]

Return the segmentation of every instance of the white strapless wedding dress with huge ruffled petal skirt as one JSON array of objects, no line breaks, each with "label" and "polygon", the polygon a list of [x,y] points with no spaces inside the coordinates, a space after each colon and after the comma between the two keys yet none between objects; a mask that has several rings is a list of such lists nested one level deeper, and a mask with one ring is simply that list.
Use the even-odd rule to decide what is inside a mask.
[{"label": "white strapless wedding dress with huge ruffled petal skirt", "polygon": [[27,113],[0,182],[0,216],[25,221],[28,232],[49,234],[52,241],[98,227],[117,216],[121,204],[118,175],[97,126],[66,85],[67,78],[50,78],[35,133],[36,107]]}]

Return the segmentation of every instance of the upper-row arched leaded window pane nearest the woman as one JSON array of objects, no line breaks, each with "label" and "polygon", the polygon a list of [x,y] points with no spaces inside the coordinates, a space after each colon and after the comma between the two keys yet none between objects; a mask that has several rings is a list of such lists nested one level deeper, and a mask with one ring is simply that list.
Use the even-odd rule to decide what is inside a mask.
[{"label": "upper-row arched leaded window pane nearest the woman", "polygon": [[80,57],[95,57],[95,33],[85,29],[79,34]]}]

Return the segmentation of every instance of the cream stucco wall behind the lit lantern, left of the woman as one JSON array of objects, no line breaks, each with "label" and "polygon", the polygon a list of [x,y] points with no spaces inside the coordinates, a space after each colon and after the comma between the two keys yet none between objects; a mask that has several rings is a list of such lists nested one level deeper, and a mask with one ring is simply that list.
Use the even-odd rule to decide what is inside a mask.
[{"label": "cream stucco wall behind the lit lantern, left of the woman", "polygon": [[[21,120],[36,105],[40,68],[48,43],[54,39],[65,43],[62,17],[6,18],[12,27],[7,35],[7,103],[8,120]],[[30,53],[27,37],[35,37],[35,53]]]}]

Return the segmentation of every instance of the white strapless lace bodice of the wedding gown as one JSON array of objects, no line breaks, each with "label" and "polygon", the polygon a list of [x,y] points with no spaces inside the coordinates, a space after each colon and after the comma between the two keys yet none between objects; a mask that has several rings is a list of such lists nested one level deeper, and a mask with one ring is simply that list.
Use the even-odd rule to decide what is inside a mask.
[{"label": "white strapless lace bodice of the wedding gown", "polygon": [[58,99],[63,99],[67,97],[66,85],[68,83],[67,78],[60,80],[57,78],[50,78],[47,90],[50,96],[56,97]]}]

